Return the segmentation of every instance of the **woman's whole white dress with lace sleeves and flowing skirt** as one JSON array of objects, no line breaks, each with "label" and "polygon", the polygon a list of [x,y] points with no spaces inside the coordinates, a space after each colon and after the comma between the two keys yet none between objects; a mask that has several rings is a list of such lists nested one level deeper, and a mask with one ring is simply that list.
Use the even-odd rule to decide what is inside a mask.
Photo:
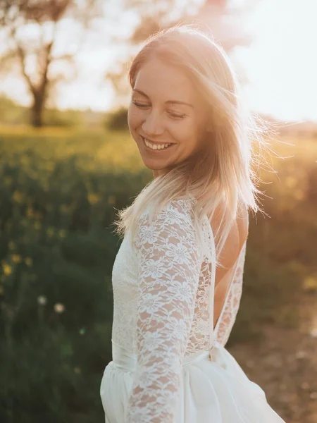
[{"label": "woman's whole white dress with lace sleeves and flowing skirt", "polygon": [[213,330],[215,243],[192,200],[173,200],[125,235],[113,264],[112,357],[101,381],[106,423],[285,423],[225,349],[242,294],[246,243]]}]

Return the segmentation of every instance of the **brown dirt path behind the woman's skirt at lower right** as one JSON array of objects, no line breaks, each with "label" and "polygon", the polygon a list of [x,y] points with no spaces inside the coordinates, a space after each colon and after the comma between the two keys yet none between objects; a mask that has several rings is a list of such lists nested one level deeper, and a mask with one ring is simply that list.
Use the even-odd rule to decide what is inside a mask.
[{"label": "brown dirt path behind the woman's skirt at lower right", "polygon": [[317,423],[317,293],[300,301],[299,329],[267,325],[260,345],[228,350],[286,423]]}]

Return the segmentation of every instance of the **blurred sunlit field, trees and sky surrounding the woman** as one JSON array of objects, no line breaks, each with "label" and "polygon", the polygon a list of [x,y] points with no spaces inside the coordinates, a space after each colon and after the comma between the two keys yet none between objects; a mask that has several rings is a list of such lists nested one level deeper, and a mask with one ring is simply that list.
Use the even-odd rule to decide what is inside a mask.
[{"label": "blurred sunlit field, trees and sky surrounding the woman", "polygon": [[116,210],[153,178],[128,67],[180,20],[223,45],[274,125],[226,345],[287,423],[317,422],[317,4],[0,0],[0,420],[104,422]]}]

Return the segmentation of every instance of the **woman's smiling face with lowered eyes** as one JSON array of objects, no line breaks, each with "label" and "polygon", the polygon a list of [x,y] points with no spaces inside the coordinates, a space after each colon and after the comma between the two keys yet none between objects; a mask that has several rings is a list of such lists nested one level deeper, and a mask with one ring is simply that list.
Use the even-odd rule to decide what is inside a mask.
[{"label": "woman's smiling face with lowered eyes", "polygon": [[141,66],[132,89],[128,123],[154,178],[201,149],[207,119],[206,106],[185,73],[155,57]]}]

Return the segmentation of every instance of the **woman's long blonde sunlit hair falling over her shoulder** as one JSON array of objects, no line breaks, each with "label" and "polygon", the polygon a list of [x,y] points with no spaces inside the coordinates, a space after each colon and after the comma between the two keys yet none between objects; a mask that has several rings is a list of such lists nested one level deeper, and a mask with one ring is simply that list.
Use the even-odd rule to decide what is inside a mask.
[{"label": "woman's long blonde sunlit hair falling over her shoulder", "polygon": [[263,194],[256,168],[261,152],[268,148],[265,135],[268,123],[244,109],[240,83],[223,48],[193,25],[175,25],[152,35],[132,61],[129,72],[131,87],[137,72],[151,58],[159,57],[178,66],[192,80],[201,98],[210,107],[213,131],[207,151],[189,157],[181,164],[164,169],[151,180],[129,207],[118,211],[115,231],[118,235],[137,231],[142,212],[149,209],[150,221],[172,200],[194,198],[194,227],[199,240],[201,219],[209,219],[217,207],[223,210],[214,234],[216,264],[228,238],[232,223],[242,209],[259,210],[256,196]]}]

